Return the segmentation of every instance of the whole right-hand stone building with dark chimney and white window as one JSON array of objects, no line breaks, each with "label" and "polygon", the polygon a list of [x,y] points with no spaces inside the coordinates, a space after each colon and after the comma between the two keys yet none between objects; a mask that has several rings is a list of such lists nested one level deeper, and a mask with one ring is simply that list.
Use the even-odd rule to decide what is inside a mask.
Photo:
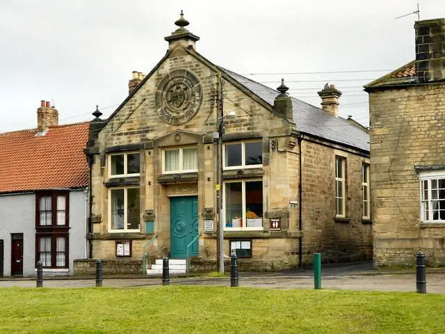
[{"label": "whole right-hand stone building with dark chimney and white window", "polygon": [[416,22],[416,60],[365,86],[375,266],[445,263],[445,19]]}]

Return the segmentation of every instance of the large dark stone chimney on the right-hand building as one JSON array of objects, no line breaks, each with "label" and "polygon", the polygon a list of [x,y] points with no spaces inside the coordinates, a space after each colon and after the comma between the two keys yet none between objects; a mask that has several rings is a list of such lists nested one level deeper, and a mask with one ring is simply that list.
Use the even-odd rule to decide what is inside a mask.
[{"label": "large dark stone chimney on the right-hand building", "polygon": [[414,29],[417,82],[445,79],[445,19],[418,21]]}]

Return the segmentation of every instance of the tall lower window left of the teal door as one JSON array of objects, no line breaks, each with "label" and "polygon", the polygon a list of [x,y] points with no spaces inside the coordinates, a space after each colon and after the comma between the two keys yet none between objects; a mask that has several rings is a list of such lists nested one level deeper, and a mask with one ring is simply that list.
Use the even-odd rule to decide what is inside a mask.
[{"label": "tall lower window left of the teal door", "polygon": [[109,189],[110,231],[139,232],[140,203],[138,187]]}]

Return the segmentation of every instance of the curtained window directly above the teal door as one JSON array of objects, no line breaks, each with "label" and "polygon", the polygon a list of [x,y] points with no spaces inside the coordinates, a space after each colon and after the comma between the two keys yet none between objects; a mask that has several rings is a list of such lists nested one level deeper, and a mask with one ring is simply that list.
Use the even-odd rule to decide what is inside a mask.
[{"label": "curtained window directly above the teal door", "polygon": [[163,150],[163,173],[197,172],[197,148]]}]

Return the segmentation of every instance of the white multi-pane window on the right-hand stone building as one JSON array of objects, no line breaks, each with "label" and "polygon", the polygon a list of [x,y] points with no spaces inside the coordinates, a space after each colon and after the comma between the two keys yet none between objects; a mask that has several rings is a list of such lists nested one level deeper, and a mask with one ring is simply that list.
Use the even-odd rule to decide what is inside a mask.
[{"label": "white multi-pane window on the right-hand stone building", "polygon": [[445,223],[445,170],[422,172],[419,178],[422,223]]}]

